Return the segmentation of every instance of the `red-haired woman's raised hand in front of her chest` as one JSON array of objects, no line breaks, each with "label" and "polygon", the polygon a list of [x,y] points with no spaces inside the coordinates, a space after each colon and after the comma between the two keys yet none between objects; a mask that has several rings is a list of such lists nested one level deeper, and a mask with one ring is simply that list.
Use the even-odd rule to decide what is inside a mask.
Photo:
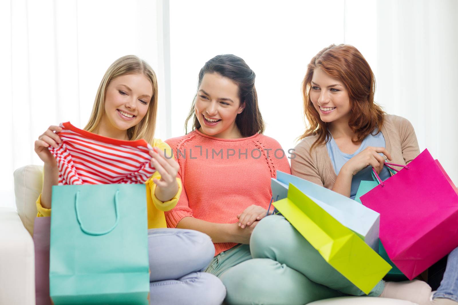
[{"label": "red-haired woman's raised hand in front of her chest", "polygon": [[385,164],[385,158],[378,153],[386,155],[388,160],[391,161],[391,155],[385,148],[368,146],[365,150],[361,151],[358,155],[355,155],[347,161],[347,163],[342,166],[342,169],[351,173],[353,177],[358,171],[366,168],[367,166],[372,166],[377,174],[380,174],[383,169],[383,165]]}]

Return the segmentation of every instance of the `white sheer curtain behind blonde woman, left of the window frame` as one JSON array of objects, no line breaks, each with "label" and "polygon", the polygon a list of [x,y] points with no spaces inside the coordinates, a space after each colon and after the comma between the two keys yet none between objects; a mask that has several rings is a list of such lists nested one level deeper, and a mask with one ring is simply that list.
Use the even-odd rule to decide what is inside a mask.
[{"label": "white sheer curtain behind blonde woman, left of the window frame", "polygon": [[[159,113],[167,112],[167,10],[162,0],[0,2],[0,206],[14,206],[13,171],[41,164],[33,142],[49,125],[85,126],[100,80],[115,59],[135,54],[153,67]],[[158,116],[157,136],[169,137],[170,126]]]}]

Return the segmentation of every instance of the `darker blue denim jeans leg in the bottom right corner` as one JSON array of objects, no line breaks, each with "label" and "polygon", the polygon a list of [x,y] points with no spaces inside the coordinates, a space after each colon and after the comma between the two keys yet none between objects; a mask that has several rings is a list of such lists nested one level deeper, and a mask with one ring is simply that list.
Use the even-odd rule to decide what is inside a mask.
[{"label": "darker blue denim jeans leg in the bottom right corner", "polygon": [[441,286],[433,299],[444,298],[458,302],[458,248],[450,252],[447,258],[447,268],[442,278]]}]

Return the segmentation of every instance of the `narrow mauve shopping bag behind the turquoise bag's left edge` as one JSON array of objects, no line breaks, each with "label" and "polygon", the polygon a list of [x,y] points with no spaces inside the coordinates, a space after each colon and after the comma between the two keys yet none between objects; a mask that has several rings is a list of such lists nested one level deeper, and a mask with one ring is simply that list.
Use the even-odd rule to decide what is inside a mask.
[{"label": "narrow mauve shopping bag behind the turquoise bag's left edge", "polygon": [[51,305],[49,297],[49,233],[51,217],[37,217],[33,225],[36,305]]}]

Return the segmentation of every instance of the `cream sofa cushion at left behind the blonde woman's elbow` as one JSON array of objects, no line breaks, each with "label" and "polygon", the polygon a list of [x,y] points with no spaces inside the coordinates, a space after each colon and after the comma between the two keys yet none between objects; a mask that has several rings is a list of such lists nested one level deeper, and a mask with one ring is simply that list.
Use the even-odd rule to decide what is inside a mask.
[{"label": "cream sofa cushion at left behind the blonde woman's elbow", "polygon": [[33,222],[37,216],[35,202],[43,186],[43,166],[26,165],[14,171],[14,194],[17,214],[22,224],[33,235]]}]

